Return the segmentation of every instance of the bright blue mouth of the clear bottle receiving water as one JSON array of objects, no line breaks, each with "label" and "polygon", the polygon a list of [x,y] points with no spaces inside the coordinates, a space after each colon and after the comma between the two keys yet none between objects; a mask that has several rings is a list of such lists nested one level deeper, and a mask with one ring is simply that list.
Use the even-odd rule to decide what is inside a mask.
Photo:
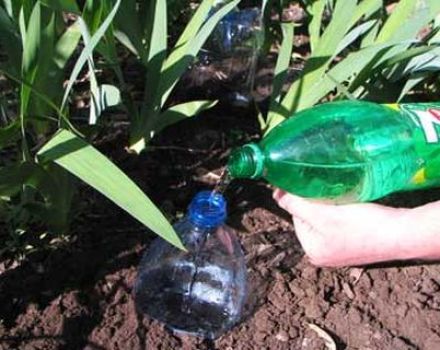
[{"label": "bright blue mouth of the clear bottle receiving water", "polygon": [[188,216],[203,228],[220,226],[226,220],[226,200],[217,192],[199,192],[191,201]]}]

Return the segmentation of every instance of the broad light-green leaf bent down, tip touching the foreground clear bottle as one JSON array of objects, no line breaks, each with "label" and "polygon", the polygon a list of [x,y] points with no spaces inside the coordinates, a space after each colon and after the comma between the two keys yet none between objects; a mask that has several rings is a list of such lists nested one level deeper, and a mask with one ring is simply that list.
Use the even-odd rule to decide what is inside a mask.
[{"label": "broad light-green leaf bent down, tip touching the foreground clear bottle", "polygon": [[184,249],[163,214],[142,190],[102,153],[70,131],[61,130],[38,152],[92,186],[159,236]]}]

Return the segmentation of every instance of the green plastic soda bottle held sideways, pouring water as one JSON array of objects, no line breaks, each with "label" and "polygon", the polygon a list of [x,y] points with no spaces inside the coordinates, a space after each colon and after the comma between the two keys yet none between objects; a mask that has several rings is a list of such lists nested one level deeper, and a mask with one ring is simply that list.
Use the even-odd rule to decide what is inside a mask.
[{"label": "green plastic soda bottle held sideways, pouring water", "polygon": [[322,104],[235,150],[227,169],[337,203],[440,186],[440,103]]}]

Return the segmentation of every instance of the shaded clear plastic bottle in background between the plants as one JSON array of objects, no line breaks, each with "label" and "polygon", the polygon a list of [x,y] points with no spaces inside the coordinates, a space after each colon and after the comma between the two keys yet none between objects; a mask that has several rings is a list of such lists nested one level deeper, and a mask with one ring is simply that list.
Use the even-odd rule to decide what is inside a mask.
[{"label": "shaded clear plastic bottle in background between the plants", "polygon": [[[227,2],[217,1],[214,8]],[[206,98],[248,107],[262,41],[261,10],[235,8],[219,22],[185,79]]]}]

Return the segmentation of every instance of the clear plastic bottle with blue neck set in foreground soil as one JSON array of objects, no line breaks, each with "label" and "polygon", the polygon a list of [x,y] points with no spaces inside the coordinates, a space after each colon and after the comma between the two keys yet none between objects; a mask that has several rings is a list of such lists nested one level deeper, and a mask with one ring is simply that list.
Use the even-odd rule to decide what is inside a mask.
[{"label": "clear plastic bottle with blue neck set in foreground soil", "polygon": [[214,339],[241,318],[246,266],[226,201],[200,192],[175,225],[187,251],[156,239],[142,258],[134,287],[138,309],[177,332]]}]

